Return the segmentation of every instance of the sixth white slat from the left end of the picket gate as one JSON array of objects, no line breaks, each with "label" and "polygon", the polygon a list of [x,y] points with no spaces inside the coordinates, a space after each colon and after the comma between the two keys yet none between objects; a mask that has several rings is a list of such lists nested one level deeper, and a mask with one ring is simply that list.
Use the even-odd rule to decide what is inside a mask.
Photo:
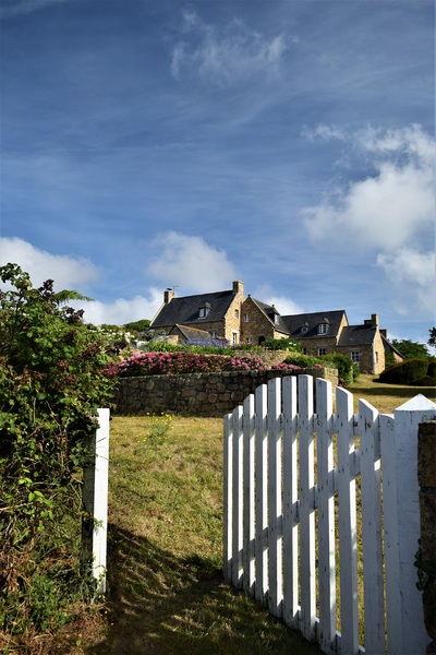
[{"label": "sixth white slat from the left end of the picket gate", "polygon": [[282,380],[283,398],[283,619],[299,627],[296,378]]}]

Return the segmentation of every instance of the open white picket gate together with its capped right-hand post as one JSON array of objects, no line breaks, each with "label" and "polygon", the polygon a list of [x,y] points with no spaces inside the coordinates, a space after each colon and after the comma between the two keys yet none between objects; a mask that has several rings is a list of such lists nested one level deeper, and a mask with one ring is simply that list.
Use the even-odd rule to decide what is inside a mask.
[{"label": "open white picket gate together with its capped right-hand post", "polygon": [[225,417],[225,576],[324,653],[425,653],[416,443],[436,405],[315,396],[276,378]]}]

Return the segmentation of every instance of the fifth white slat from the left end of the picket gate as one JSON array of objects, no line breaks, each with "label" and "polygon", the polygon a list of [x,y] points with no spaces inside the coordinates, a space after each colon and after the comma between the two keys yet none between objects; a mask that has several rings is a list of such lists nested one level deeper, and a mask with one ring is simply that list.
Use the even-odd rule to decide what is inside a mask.
[{"label": "fifth white slat from the left end of the picket gate", "polygon": [[268,608],[282,614],[281,379],[268,381]]}]

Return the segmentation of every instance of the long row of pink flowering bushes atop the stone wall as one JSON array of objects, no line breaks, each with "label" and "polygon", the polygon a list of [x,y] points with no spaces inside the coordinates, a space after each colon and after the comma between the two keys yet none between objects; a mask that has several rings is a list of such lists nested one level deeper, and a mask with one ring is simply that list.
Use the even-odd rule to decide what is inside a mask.
[{"label": "long row of pink flowering bushes atop the stone wall", "polygon": [[[214,373],[221,371],[265,371],[262,359],[201,353],[134,353],[128,359],[111,365],[108,377],[177,376],[180,373]],[[278,364],[271,370],[301,370],[299,366]]]}]

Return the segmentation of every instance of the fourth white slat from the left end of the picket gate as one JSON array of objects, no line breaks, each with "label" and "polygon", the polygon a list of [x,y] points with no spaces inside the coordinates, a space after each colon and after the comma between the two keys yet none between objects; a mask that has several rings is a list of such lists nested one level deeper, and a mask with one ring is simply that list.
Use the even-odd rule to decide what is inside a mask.
[{"label": "fourth white slat from the left end of the picket gate", "polygon": [[268,514],[267,514],[267,386],[255,391],[255,597],[267,603],[268,594]]}]

